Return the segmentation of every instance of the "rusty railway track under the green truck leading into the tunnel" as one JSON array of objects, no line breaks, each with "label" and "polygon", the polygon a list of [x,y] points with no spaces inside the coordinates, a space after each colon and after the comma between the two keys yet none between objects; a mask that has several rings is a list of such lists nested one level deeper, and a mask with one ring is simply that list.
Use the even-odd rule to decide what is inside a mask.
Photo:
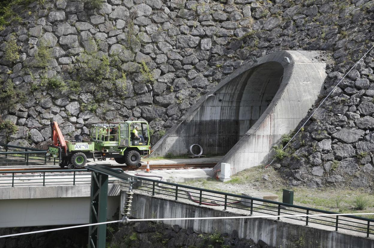
[{"label": "rusty railway track under the green truck leading into the tunnel", "polygon": [[[180,169],[205,169],[205,168],[212,168],[215,166],[216,163],[199,163],[199,164],[155,164],[150,166],[150,170],[180,170]],[[147,168],[146,165],[142,165],[141,167],[135,166],[123,166],[123,165],[110,165],[110,168],[119,168],[123,169],[124,171],[131,171],[131,170],[145,170]],[[6,173],[7,171],[28,171],[28,170],[62,170],[67,168],[61,168],[59,166],[52,166],[52,167],[31,167],[31,168],[4,168],[0,167],[0,173]],[[73,171],[73,170],[72,170]]]}]

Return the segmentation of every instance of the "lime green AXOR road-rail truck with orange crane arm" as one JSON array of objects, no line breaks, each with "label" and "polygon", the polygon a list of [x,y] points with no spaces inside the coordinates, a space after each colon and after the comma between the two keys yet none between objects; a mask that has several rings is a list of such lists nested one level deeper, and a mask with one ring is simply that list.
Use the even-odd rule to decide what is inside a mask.
[{"label": "lime green AXOR road-rail truck with orange crane arm", "polygon": [[119,164],[140,167],[141,156],[150,152],[147,122],[95,124],[91,127],[89,141],[83,141],[80,135],[76,135],[75,141],[65,141],[57,122],[51,123],[51,129],[53,144],[47,154],[59,158],[60,167],[81,168],[87,158],[93,161],[114,158]]}]

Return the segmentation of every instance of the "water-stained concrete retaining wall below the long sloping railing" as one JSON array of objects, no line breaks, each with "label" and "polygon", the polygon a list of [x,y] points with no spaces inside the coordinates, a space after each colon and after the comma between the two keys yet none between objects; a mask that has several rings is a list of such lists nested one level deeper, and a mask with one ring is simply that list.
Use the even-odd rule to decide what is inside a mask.
[{"label": "water-stained concrete retaining wall below the long sloping railing", "polygon": [[[124,192],[121,192],[121,201]],[[121,204],[122,206],[123,204]],[[134,218],[183,218],[238,216],[228,211],[190,205],[171,200],[134,194],[132,217]],[[309,226],[294,225],[271,219],[226,219],[226,220],[177,220],[164,221],[169,225],[213,233],[232,233],[236,230],[239,238],[262,239],[267,244],[283,248],[374,248],[374,240],[340,232],[331,232]],[[304,245],[300,246],[299,244]]]}]

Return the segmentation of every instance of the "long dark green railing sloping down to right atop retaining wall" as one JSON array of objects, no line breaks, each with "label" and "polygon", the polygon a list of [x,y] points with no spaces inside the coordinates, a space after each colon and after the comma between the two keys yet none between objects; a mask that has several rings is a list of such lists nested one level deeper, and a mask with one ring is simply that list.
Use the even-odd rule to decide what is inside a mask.
[{"label": "long dark green railing sloping down to right atop retaining wall", "polygon": [[[315,223],[318,225],[329,226],[335,231],[350,230],[365,233],[367,237],[369,237],[370,234],[374,235],[374,219],[368,219],[365,217],[353,215],[298,217],[296,215],[340,213],[148,178],[141,178],[140,182],[138,181],[134,187],[141,191],[148,192],[148,194],[152,196],[157,195],[170,200],[190,200],[199,205],[222,207],[222,210],[227,210],[228,208],[239,209],[242,214],[253,215],[259,213],[274,216],[285,215],[288,217],[278,217],[277,219],[291,219],[297,224],[306,226],[310,225],[310,223]],[[292,217],[294,215],[295,217]]]}]

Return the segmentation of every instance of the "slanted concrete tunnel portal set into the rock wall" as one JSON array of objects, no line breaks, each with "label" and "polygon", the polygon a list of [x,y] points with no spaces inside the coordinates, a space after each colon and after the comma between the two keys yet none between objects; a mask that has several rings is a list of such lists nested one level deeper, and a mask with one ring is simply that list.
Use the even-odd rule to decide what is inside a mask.
[{"label": "slanted concrete tunnel portal set into the rock wall", "polygon": [[[243,65],[203,96],[153,147],[151,156],[225,154],[239,172],[269,159],[317,99],[326,77],[314,51],[280,51]],[[218,163],[217,166],[220,164]]]}]

